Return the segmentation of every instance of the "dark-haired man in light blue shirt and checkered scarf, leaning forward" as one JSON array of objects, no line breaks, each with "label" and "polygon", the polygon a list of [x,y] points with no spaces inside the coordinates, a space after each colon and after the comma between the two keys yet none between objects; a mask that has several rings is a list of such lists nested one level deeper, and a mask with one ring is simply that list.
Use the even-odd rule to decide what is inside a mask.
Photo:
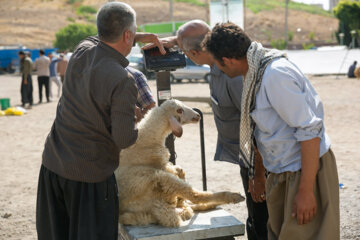
[{"label": "dark-haired man in light blue shirt and checkered scarf, leaning forward", "polygon": [[257,147],[269,172],[268,238],[340,239],[336,159],[310,81],[233,23],[217,24],[203,45],[228,76],[243,76],[240,153],[256,173]]}]

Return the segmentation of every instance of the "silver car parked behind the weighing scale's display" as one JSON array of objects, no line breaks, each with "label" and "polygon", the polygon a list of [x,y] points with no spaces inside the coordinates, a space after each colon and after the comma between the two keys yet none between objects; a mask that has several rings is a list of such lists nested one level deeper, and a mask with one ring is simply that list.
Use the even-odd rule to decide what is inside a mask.
[{"label": "silver car parked behind the weighing scale's display", "polygon": [[183,79],[210,81],[210,67],[207,65],[196,65],[189,58],[186,58],[186,67],[179,68],[170,74],[171,82],[181,82]]}]

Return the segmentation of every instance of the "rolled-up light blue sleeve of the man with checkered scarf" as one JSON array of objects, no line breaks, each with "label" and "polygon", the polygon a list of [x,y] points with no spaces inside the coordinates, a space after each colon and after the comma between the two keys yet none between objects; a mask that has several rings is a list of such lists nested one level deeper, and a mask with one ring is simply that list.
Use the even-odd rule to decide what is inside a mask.
[{"label": "rolled-up light blue sleeve of the man with checkered scarf", "polygon": [[296,129],[294,137],[297,141],[321,138],[323,133],[322,116],[314,113],[309,103],[313,96],[305,88],[304,83],[288,72],[274,72],[265,83],[271,106],[290,127]]}]

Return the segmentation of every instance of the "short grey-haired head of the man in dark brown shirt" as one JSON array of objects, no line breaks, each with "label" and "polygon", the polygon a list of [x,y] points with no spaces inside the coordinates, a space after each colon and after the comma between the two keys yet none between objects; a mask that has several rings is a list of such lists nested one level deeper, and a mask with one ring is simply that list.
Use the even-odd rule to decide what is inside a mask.
[{"label": "short grey-haired head of the man in dark brown shirt", "polygon": [[120,49],[125,56],[130,53],[136,34],[134,9],[126,3],[106,3],[97,14],[96,24],[101,41]]}]

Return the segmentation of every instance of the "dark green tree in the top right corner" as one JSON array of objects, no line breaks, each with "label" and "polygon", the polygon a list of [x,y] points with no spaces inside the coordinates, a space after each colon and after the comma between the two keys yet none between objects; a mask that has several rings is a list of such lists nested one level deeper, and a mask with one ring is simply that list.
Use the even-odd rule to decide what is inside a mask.
[{"label": "dark green tree in the top right corner", "polygon": [[339,19],[337,38],[339,39],[339,33],[344,33],[344,44],[348,46],[351,43],[351,30],[360,29],[360,2],[342,0],[333,11]]}]

